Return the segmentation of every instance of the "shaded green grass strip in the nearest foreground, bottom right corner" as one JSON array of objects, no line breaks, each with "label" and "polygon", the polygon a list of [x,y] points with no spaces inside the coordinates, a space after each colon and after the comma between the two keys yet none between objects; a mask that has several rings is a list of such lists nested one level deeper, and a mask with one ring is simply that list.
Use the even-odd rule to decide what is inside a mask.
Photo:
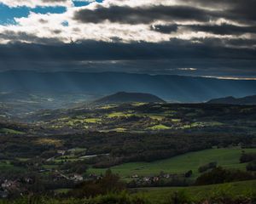
[{"label": "shaded green grass strip in the nearest foreground, bottom right corner", "polygon": [[147,197],[152,204],[159,204],[179,191],[183,191],[195,200],[209,199],[212,196],[216,197],[218,195],[227,195],[231,198],[241,195],[252,196],[256,194],[256,180],[191,187],[142,188],[137,189],[137,194]]}]

